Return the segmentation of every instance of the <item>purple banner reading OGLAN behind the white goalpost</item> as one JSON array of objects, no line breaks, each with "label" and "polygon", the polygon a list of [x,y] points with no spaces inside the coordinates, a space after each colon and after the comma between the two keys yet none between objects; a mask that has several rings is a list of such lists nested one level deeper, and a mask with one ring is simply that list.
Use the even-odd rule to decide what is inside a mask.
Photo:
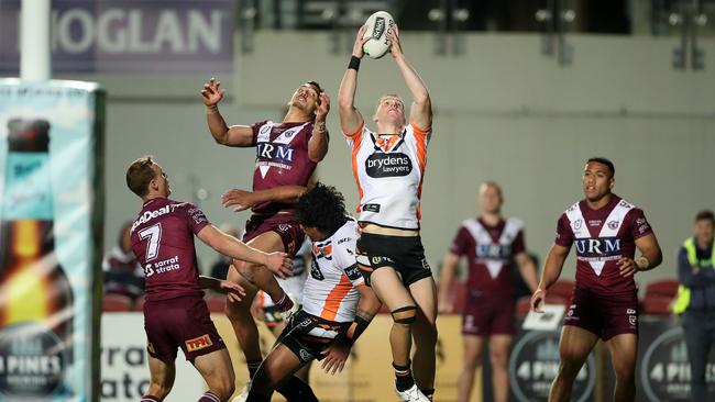
[{"label": "purple banner reading OGLAN behind the white goalpost", "polygon": [[[20,65],[20,2],[0,1],[0,72]],[[205,74],[233,66],[233,0],[54,0],[54,72]]]}]

